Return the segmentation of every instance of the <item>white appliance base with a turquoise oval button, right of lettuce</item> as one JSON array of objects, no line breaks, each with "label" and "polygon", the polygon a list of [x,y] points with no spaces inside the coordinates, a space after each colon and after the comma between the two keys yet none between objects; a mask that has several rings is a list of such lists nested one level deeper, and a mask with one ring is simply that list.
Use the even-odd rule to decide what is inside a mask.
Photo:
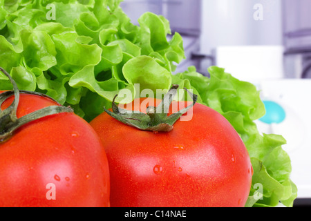
[{"label": "white appliance base with a turquoise oval button, right of lettuce", "polygon": [[[311,199],[311,79],[262,79],[257,83],[263,101],[281,106],[285,117],[279,122],[256,124],[261,133],[283,135],[283,149],[292,161],[291,179],[298,188],[298,200]],[[269,110],[270,112],[282,111]],[[272,113],[266,113],[270,115]]]}]

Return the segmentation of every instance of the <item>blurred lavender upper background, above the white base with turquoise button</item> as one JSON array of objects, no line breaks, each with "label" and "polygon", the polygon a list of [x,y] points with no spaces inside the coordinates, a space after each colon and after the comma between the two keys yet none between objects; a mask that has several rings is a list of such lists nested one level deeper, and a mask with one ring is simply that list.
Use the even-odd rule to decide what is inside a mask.
[{"label": "blurred lavender upper background, above the white base with turquoise button", "polygon": [[[121,6],[135,24],[154,12],[182,35],[187,59],[176,72],[194,65],[208,75],[217,65],[245,79],[311,78],[310,0],[125,0]],[[256,70],[249,73],[249,66]]]}]

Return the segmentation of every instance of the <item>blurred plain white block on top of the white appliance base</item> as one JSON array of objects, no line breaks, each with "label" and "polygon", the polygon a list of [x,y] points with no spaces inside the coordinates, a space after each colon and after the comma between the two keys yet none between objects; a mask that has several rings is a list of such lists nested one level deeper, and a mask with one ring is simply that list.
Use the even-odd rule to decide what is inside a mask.
[{"label": "blurred plain white block on top of the white appliance base", "polygon": [[216,66],[245,81],[283,77],[283,46],[218,46]]}]

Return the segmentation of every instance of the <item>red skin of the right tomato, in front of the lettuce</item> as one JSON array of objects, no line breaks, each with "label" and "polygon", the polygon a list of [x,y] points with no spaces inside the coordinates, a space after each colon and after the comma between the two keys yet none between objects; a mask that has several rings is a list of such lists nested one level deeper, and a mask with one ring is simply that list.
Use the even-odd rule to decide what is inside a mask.
[{"label": "red skin of the right tomato, in front of the lettuce", "polygon": [[106,113],[93,119],[109,160],[111,206],[245,205],[252,164],[243,141],[211,108],[195,104],[193,112],[168,133],[140,131]]}]

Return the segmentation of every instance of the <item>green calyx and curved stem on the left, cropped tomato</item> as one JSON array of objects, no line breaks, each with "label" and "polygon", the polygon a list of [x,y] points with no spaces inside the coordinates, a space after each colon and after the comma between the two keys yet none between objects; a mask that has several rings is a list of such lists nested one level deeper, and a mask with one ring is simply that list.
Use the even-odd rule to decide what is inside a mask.
[{"label": "green calyx and curved stem on the left, cropped tomato", "polygon": [[[72,108],[61,106],[47,106],[46,108],[42,108],[38,111],[34,111],[32,113],[29,113],[28,115],[24,115],[23,117],[17,118],[17,106],[19,104],[19,95],[20,93],[24,94],[31,94],[31,95],[39,95],[41,97],[48,97],[47,95],[37,93],[37,92],[32,92],[32,91],[27,91],[27,90],[19,90],[17,87],[16,82],[12,79],[9,73],[6,72],[3,68],[0,67],[0,71],[4,73],[10,80],[13,86],[13,90],[8,90],[6,92],[3,92],[0,94],[0,143],[5,142],[12,136],[14,131],[17,130],[17,128],[23,126],[24,124],[27,124],[28,122],[32,122],[35,119],[39,119],[41,117],[45,117],[48,115],[53,115],[57,113],[63,113],[63,112],[68,112],[71,113],[73,112]],[[8,97],[11,97],[14,95],[14,100],[8,108],[4,109],[3,111],[1,110],[1,105],[3,104]],[[55,101],[53,98],[48,97]],[[56,101],[55,101],[56,102]],[[57,103],[58,104],[58,103]]]}]

